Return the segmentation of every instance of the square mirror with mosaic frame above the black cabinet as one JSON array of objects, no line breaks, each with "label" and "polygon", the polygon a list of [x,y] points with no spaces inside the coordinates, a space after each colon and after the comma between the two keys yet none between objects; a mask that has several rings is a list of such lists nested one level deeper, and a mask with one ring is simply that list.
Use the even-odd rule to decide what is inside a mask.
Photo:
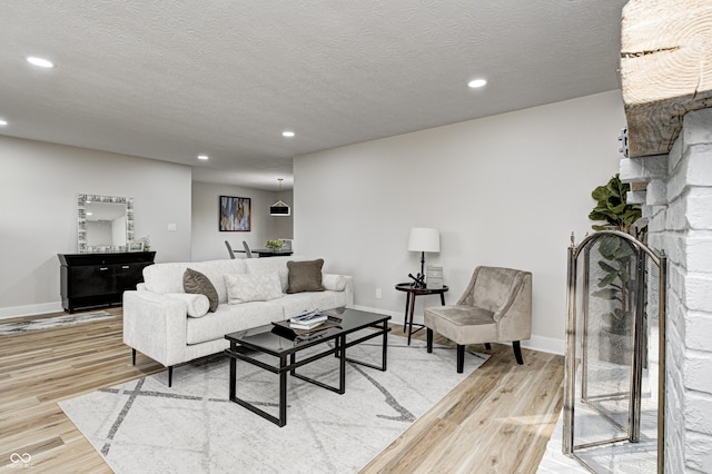
[{"label": "square mirror with mosaic frame above the black cabinet", "polygon": [[134,240],[134,199],[120,196],[77,197],[77,243],[80,254],[126,251]]}]

